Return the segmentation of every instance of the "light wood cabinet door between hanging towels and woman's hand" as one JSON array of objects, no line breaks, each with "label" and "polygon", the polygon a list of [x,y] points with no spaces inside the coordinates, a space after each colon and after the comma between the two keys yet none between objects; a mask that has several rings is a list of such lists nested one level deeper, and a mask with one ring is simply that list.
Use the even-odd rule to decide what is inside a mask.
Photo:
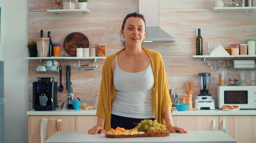
[{"label": "light wood cabinet door between hanging towels and woman's hand", "polygon": [[76,116],[76,132],[87,132],[96,125],[97,116]]}]

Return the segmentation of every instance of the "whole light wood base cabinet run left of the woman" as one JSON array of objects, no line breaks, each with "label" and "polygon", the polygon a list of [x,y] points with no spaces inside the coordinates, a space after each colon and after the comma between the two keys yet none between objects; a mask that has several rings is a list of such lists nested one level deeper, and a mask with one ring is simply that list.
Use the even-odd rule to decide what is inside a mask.
[{"label": "whole light wood base cabinet run left of the woman", "polygon": [[28,116],[28,143],[40,143],[41,119],[61,119],[61,131],[88,131],[97,116]]}]

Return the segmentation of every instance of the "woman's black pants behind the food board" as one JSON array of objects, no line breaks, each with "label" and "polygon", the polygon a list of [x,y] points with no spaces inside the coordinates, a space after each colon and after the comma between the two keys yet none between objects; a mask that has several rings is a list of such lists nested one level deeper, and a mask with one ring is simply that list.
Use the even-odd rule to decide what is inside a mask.
[{"label": "woman's black pants behind the food board", "polygon": [[[151,120],[154,120],[155,118],[150,118]],[[137,119],[137,118],[129,118],[129,117],[122,117],[111,114],[111,128],[115,129],[117,127],[125,128],[126,130],[132,129],[136,124],[133,123],[140,123],[140,121],[143,119]]]}]

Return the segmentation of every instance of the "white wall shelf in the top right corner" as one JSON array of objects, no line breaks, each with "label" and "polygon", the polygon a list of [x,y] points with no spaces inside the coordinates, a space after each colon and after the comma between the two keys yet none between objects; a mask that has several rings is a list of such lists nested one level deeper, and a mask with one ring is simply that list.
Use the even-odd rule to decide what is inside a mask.
[{"label": "white wall shelf in the top right corner", "polygon": [[248,11],[256,11],[256,7],[214,7],[213,12],[227,12],[227,11],[243,11],[247,13]]}]

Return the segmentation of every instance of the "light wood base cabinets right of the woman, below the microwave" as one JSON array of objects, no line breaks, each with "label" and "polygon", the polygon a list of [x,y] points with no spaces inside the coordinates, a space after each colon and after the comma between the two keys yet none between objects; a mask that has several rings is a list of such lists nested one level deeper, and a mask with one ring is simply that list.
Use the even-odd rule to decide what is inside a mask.
[{"label": "light wood base cabinets right of the woman, below the microwave", "polygon": [[237,143],[256,143],[256,116],[172,116],[175,126],[188,131],[222,130]]}]

